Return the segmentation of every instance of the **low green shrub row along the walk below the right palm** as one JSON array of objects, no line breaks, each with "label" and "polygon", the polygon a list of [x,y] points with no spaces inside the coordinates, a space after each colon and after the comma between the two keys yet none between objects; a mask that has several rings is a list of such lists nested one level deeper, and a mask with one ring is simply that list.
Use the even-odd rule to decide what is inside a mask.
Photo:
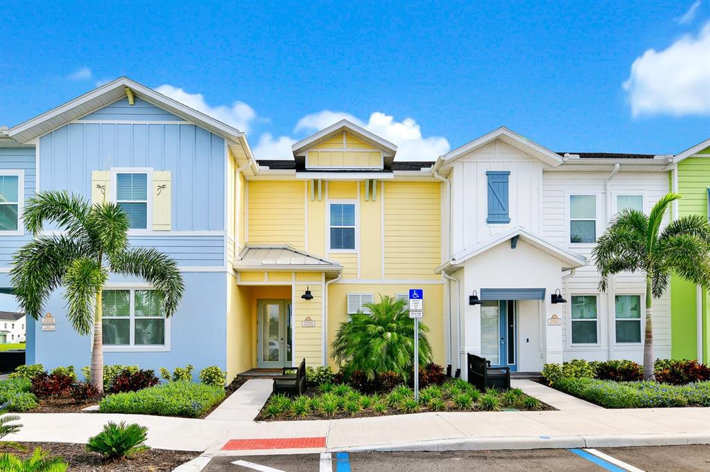
[{"label": "low green shrub row along the walk below the right palm", "polygon": [[710,406],[710,382],[674,386],[657,382],[615,382],[558,378],[552,387],[604,408]]}]

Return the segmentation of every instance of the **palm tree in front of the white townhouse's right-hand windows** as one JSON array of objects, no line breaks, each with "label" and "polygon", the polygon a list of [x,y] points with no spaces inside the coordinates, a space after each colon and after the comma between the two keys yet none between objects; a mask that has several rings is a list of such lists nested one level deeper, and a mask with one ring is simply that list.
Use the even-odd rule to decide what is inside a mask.
[{"label": "palm tree in front of the white townhouse's right-hand windows", "polygon": [[662,220],[672,201],[681,198],[668,193],[653,206],[650,215],[623,210],[599,237],[593,256],[601,273],[599,289],[606,291],[607,278],[619,272],[646,274],[646,328],[643,344],[643,378],[653,380],[653,298],[668,288],[677,275],[704,288],[710,287],[710,224],[701,215],[672,221],[661,230]]}]

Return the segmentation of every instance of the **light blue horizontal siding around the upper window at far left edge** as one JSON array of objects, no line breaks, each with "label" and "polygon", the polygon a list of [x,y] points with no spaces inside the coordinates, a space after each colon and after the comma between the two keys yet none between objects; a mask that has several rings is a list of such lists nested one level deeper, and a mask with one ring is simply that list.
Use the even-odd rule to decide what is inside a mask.
[{"label": "light blue horizontal siding around the upper window at far left edge", "polygon": [[[0,147],[0,169],[21,170],[25,174],[25,204],[35,193],[35,148]],[[0,235],[0,268],[9,266],[17,249],[31,240],[31,235]]]}]

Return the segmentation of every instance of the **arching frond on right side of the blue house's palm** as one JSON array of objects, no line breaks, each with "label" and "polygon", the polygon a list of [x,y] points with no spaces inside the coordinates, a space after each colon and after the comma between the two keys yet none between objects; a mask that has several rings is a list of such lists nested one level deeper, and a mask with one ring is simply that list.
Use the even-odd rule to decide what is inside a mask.
[{"label": "arching frond on right side of the blue house's palm", "polygon": [[151,283],[163,299],[165,316],[171,316],[178,310],[185,285],[178,264],[173,259],[153,248],[136,247],[113,254],[110,262],[112,271],[141,277]]}]

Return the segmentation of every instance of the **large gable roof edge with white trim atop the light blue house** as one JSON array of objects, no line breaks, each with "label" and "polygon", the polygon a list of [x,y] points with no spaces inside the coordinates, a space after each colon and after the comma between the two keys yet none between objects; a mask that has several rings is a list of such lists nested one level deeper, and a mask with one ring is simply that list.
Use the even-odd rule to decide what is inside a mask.
[{"label": "large gable roof edge with white trim atop the light blue house", "polygon": [[[110,103],[114,103],[114,101],[124,98],[127,93],[126,89],[129,89],[141,99],[173,113],[175,116],[179,116],[184,120],[195,123],[205,130],[224,137],[228,142],[239,142],[241,146],[244,147],[244,152],[251,157],[252,154],[249,143],[246,142],[246,136],[241,131],[211,116],[205,115],[201,111],[183,105],[179,101],[170,99],[168,96],[160,94],[150,87],[138,84],[138,82],[128,77],[119,77],[108,84],[89,91],[87,94],[67,101],[67,103],[42,113],[39,116],[35,116],[35,118],[31,118],[24,123],[13,126],[13,128],[9,129],[8,135],[17,142],[28,142],[35,137],[45,135],[52,130],[60,128],[70,123],[72,120],[86,116],[99,108],[103,108]],[[251,157],[251,160],[253,160],[253,157]]]}]

